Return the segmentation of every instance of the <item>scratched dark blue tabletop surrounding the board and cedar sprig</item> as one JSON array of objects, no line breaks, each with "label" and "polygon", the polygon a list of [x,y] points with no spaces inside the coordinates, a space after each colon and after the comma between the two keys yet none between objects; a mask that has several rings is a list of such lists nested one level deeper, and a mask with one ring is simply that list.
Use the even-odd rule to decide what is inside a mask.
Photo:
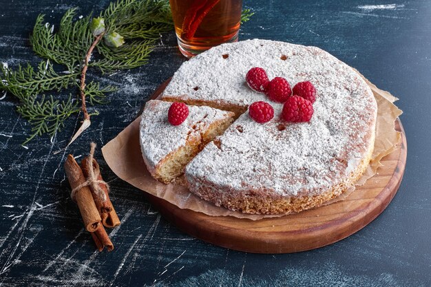
[{"label": "scratched dark blue tabletop surrounding the board and cedar sprig", "polygon": [[[39,59],[28,36],[37,14],[58,24],[109,1],[0,1],[0,61],[10,67]],[[0,286],[431,286],[431,3],[430,1],[246,1],[255,16],[241,39],[316,45],[356,67],[400,98],[408,163],[399,192],[375,221],[315,251],[256,255],[213,246],[178,231],[145,195],[109,170],[103,176],[122,219],[110,231],[115,250],[98,253],[69,198],[67,153],[82,156],[137,116],[148,96],[185,61],[174,33],[162,36],[148,65],[103,77],[120,90],[98,107],[92,127],[61,153],[76,128],[72,118],[54,138],[22,147],[29,126],[17,101],[0,93]],[[383,5],[383,6],[382,6]],[[90,76],[101,78],[100,74]]]}]

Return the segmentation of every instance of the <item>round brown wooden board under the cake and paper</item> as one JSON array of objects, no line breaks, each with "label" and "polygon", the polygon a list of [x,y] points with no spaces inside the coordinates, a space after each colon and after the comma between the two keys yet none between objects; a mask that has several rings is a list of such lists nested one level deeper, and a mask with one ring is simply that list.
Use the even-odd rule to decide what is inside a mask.
[{"label": "round brown wooden board under the cake and paper", "polygon": [[397,193],[406,167],[407,142],[399,120],[395,127],[401,131],[401,140],[395,151],[381,160],[383,167],[378,173],[346,200],[317,209],[252,221],[179,209],[152,195],[150,200],[180,230],[218,246],[251,253],[293,253],[326,246],[364,228]]}]

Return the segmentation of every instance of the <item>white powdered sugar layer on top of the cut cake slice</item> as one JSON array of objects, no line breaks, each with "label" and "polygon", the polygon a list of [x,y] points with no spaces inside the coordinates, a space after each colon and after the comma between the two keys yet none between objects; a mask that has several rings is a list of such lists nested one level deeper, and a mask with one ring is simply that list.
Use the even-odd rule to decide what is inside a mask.
[{"label": "white powdered sugar layer on top of the cut cake slice", "polygon": [[227,111],[211,107],[189,106],[189,116],[178,126],[168,122],[167,114],[172,103],[149,100],[140,121],[140,147],[147,167],[156,165],[169,153],[184,146],[189,137],[198,137],[211,123],[222,120]]}]

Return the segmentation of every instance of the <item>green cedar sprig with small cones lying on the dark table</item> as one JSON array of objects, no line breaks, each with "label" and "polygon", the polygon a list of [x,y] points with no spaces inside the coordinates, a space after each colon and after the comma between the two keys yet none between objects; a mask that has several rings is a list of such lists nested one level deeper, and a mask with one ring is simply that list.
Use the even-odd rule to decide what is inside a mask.
[{"label": "green cedar sprig with small cones lying on the dark table", "polygon": [[[107,73],[145,65],[160,40],[160,34],[173,28],[169,0],[112,2],[99,16],[105,21],[103,32],[95,35],[90,28],[92,14],[77,19],[76,12],[76,8],[67,10],[58,28],[45,23],[43,14],[37,17],[30,43],[34,52],[45,60],[36,68],[30,64],[19,65],[14,71],[0,65],[0,90],[19,99],[17,111],[32,125],[31,134],[24,143],[43,134],[53,136],[61,131],[67,118],[82,111],[83,125],[71,142],[75,140],[90,127],[90,116],[97,114],[88,113],[87,103],[106,104],[107,94],[117,89],[102,87],[96,81],[85,83],[87,70]],[[242,23],[253,14],[245,9]],[[109,43],[110,33],[121,40]],[[63,72],[56,72],[52,63],[63,65],[63,68],[58,67]],[[58,100],[52,95],[40,96],[50,91],[61,94],[70,87],[77,87],[79,97]]]}]

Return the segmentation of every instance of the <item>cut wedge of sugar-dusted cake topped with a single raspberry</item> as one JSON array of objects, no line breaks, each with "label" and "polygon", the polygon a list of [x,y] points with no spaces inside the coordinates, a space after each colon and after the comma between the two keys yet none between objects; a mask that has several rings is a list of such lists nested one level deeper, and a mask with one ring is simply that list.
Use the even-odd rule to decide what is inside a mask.
[{"label": "cut wedge of sugar-dusted cake topped with a single raspberry", "polygon": [[147,169],[161,182],[174,182],[204,145],[223,133],[233,113],[189,106],[189,116],[177,126],[168,121],[172,103],[149,100],[140,121],[140,147]]}]

